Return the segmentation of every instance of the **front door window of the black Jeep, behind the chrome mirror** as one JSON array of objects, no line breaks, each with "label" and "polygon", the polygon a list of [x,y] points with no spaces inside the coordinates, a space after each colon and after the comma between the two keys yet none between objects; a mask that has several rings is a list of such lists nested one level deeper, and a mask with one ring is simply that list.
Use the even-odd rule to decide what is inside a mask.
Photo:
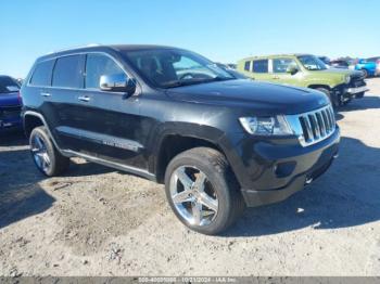
[{"label": "front door window of the black Jeep, behind the chrome mirror", "polygon": [[90,53],[86,60],[86,89],[99,89],[100,77],[103,75],[125,74],[111,57]]}]

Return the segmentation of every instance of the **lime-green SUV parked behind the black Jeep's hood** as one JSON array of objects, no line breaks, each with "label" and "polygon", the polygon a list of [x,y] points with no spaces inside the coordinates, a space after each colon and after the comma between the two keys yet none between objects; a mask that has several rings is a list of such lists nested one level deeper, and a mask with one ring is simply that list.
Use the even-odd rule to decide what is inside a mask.
[{"label": "lime-green SUV parked behind the black Jeep's hood", "polygon": [[248,57],[239,61],[237,69],[256,80],[319,90],[333,106],[345,105],[368,91],[362,72],[329,68],[311,54]]}]

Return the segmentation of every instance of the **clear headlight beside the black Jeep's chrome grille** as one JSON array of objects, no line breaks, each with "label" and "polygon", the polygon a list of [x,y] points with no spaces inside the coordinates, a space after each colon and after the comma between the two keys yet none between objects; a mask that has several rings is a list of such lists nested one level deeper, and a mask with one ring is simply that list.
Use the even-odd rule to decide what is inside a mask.
[{"label": "clear headlight beside the black Jeep's chrome grille", "polygon": [[273,117],[240,117],[240,124],[246,132],[256,135],[291,135],[293,134],[287,119],[282,115]]}]

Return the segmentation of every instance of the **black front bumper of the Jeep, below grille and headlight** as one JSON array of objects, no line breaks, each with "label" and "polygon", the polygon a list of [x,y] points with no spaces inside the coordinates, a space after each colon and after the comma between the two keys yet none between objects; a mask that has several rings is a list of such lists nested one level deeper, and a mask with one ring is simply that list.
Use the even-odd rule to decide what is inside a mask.
[{"label": "black front bumper of the Jeep, below grille and headlight", "polygon": [[[330,167],[339,141],[337,127],[329,138],[305,147],[294,141],[254,142],[253,155],[242,156],[242,165],[232,165],[246,206],[277,203],[301,191]],[[242,155],[249,149],[245,143],[237,149]]]}]

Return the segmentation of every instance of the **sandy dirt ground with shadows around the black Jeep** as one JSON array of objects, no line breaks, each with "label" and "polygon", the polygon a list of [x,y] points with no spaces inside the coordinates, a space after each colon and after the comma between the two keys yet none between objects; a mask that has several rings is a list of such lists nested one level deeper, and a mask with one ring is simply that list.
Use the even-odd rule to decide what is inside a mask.
[{"label": "sandy dirt ground with shadows around the black Jeep", "polygon": [[162,185],[76,159],[46,179],[0,137],[0,275],[380,275],[380,79],[338,114],[340,157],[223,236],[186,229]]}]

